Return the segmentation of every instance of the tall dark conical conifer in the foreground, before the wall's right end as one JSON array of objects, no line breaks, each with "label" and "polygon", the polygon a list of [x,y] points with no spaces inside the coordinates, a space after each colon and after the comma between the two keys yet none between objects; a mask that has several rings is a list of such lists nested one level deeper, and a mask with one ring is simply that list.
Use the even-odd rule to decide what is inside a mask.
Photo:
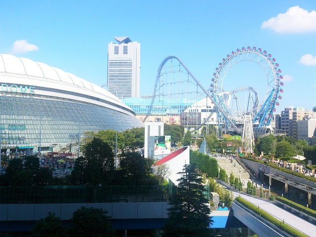
[{"label": "tall dark conical conifer in the foreground, before the wall's right end", "polygon": [[184,165],[179,173],[177,194],[170,201],[168,219],[164,225],[164,237],[211,237],[209,226],[213,223],[209,217],[208,199],[204,196],[204,186],[195,169]]}]

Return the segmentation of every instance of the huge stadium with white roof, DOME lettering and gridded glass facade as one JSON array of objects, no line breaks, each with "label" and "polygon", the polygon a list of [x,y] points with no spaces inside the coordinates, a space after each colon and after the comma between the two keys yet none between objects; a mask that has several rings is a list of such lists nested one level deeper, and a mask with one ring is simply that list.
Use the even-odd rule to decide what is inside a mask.
[{"label": "huge stadium with white roof, DOME lettering and gridded glass facade", "polygon": [[107,90],[27,58],[0,54],[1,152],[77,152],[85,131],[142,127]]}]

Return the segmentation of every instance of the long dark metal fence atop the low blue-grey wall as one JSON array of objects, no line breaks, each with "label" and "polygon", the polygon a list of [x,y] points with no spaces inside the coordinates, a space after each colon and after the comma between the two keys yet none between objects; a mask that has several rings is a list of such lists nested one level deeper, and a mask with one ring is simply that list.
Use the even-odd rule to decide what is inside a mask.
[{"label": "long dark metal fence atop the low blue-grey wall", "polygon": [[[0,187],[0,204],[169,201],[176,186]],[[209,187],[205,186],[209,198]]]}]

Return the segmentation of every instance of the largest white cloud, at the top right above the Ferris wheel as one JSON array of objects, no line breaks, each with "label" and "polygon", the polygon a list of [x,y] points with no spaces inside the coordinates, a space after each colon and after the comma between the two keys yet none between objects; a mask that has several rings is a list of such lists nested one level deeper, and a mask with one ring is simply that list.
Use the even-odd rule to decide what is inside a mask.
[{"label": "largest white cloud, at the top right above the Ferris wheel", "polygon": [[293,6],[287,12],[264,21],[261,28],[272,29],[277,33],[316,32],[316,11],[308,12],[299,6]]}]

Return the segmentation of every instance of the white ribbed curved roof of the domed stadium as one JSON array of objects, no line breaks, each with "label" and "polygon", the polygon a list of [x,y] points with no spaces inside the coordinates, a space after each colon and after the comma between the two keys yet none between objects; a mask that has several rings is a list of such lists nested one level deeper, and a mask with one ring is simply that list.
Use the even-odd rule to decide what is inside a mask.
[{"label": "white ribbed curved roof of the domed stadium", "polygon": [[[40,62],[34,62],[28,58],[18,58],[10,54],[0,54],[0,79],[1,83],[16,83],[37,86],[38,88],[53,88],[55,92],[56,90],[63,91],[59,95],[67,95],[66,92],[70,92],[70,94],[76,94],[77,97],[81,94],[86,97],[98,98],[103,101],[109,101],[112,105],[117,104],[120,108],[124,107],[125,110],[127,109],[127,111],[134,114],[128,106],[104,88],[71,73],[66,73],[59,68],[50,67]],[[46,92],[46,95],[47,94],[50,95],[50,92]],[[58,93],[53,94],[53,92],[51,92],[53,96],[56,96],[56,94]],[[70,95],[67,96],[69,97]],[[76,99],[78,100],[78,98]],[[94,100],[96,104],[101,105],[98,99]]]}]

